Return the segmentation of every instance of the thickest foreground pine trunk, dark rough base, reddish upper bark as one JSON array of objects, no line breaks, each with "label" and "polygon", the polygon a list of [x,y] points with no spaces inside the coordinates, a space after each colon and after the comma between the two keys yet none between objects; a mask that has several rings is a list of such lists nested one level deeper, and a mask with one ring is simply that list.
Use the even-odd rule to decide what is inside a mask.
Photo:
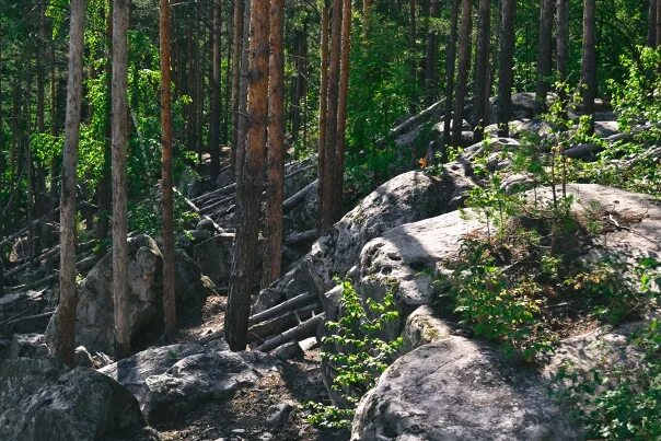
[{"label": "thickest foreground pine trunk, dark rough base, reddish upper bark", "polygon": [[269,10],[269,0],[253,0],[247,98],[250,126],[243,176],[236,186],[239,228],[224,323],[225,339],[234,351],[246,347],[251,295],[259,281],[256,277],[256,260],[267,132]]}]

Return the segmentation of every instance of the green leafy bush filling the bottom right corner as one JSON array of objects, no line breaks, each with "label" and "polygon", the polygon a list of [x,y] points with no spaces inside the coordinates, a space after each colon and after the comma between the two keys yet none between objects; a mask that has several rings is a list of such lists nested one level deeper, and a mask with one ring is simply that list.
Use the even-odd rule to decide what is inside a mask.
[{"label": "green leafy bush filling the bottom right corner", "polygon": [[578,409],[590,439],[661,439],[661,326],[653,320],[633,338],[642,359],[583,371],[566,364],[559,396]]}]

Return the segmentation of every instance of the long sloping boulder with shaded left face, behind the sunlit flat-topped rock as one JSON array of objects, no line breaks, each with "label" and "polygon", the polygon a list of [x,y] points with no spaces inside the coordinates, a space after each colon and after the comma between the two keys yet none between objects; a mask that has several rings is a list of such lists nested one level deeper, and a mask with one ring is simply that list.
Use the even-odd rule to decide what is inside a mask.
[{"label": "long sloping boulder with shaded left face, behind the sunlit flat-topped rock", "polygon": [[345,214],[291,270],[263,290],[254,306],[259,312],[303,292],[320,295],[356,264],[363,245],[385,231],[459,208],[475,184],[463,164],[444,166],[441,178],[407,172],[381,185]]}]

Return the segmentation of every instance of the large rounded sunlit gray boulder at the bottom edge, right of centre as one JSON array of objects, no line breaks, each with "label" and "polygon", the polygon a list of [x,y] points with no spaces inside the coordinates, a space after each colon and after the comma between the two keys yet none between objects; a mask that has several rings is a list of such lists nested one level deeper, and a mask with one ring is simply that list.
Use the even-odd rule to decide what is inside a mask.
[{"label": "large rounded sunlit gray boulder at the bottom edge, right of centre", "polygon": [[360,402],[352,440],[578,440],[534,372],[449,337],[399,358]]}]

